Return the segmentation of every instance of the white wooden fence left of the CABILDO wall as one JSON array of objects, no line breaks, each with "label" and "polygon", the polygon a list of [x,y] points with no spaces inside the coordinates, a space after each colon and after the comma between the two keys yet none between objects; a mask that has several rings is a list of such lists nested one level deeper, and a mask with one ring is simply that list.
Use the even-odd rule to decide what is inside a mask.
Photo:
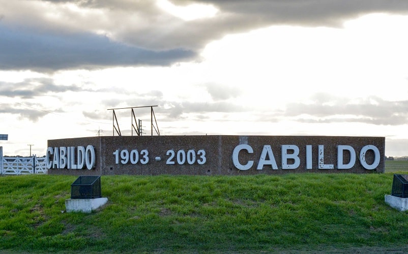
[{"label": "white wooden fence left of the CABILDO wall", "polygon": [[45,157],[3,157],[0,147],[0,174],[27,175],[47,174]]}]

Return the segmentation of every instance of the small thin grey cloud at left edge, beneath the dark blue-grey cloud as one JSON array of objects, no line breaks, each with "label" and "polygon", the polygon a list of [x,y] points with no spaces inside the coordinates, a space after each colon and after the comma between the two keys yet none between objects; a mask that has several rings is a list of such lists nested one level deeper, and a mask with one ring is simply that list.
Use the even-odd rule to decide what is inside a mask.
[{"label": "small thin grey cloud at left edge, beneath the dark blue-grey cloud", "polygon": [[50,78],[30,78],[17,83],[0,81],[0,97],[33,99],[44,96],[47,93],[64,93],[67,91],[80,92],[90,90],[76,85],[56,85]]}]

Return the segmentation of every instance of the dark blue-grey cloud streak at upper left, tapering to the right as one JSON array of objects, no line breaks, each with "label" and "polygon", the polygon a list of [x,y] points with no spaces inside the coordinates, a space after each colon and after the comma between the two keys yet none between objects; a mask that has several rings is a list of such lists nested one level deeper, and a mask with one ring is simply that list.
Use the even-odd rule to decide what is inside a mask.
[{"label": "dark blue-grey cloud streak at upper left, tapering to the right", "polygon": [[0,25],[0,69],[96,68],[110,66],[169,65],[192,57],[190,51],[152,51],[112,42],[92,34],[39,34]]}]

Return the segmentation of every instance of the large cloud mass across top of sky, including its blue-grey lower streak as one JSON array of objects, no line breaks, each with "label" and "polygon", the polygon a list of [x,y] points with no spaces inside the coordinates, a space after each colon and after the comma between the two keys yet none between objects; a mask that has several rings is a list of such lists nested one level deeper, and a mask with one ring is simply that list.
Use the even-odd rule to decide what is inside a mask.
[{"label": "large cloud mass across top of sky, including its blue-grey lower streak", "polygon": [[[406,0],[170,1],[180,7],[208,4],[218,9],[214,17],[185,21],[166,13],[157,1],[42,2],[50,8],[44,9],[41,1],[2,5],[0,69],[166,66],[196,58],[207,43],[227,34],[276,24],[341,26],[364,14],[408,11]],[[28,3],[32,12],[23,11]]]}]

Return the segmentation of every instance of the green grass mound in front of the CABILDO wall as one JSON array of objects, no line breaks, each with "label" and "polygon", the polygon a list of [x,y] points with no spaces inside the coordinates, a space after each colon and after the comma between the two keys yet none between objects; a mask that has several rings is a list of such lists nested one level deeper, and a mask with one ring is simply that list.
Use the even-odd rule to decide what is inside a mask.
[{"label": "green grass mound in front of the CABILDO wall", "polygon": [[392,177],[102,176],[90,214],[62,213],[75,176],[0,177],[0,252],[408,250]]}]

